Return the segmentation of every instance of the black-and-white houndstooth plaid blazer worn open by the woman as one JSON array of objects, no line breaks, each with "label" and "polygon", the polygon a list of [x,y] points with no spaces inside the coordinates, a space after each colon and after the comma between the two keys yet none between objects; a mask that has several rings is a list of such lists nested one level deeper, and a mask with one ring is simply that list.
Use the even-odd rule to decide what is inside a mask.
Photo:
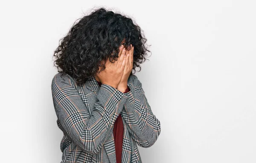
[{"label": "black-and-white houndstooth plaid blazer worn open by the woman", "polygon": [[64,133],[61,163],[116,163],[113,126],[119,114],[124,125],[122,163],[142,163],[137,144],[152,146],[160,135],[160,121],[134,74],[128,87],[122,93],[108,84],[99,87],[94,77],[82,86],[66,73],[53,77],[57,125]]}]

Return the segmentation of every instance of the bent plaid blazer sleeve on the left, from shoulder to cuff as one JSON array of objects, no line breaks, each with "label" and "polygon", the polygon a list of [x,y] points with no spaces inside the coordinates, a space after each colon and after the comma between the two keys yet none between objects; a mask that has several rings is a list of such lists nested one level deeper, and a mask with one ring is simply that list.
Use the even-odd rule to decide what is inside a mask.
[{"label": "bent plaid blazer sleeve on the left, from shoulder to cuff", "polygon": [[123,95],[116,88],[102,84],[90,116],[72,82],[52,79],[52,99],[59,123],[74,143],[90,153],[98,153],[102,148],[127,100]]}]

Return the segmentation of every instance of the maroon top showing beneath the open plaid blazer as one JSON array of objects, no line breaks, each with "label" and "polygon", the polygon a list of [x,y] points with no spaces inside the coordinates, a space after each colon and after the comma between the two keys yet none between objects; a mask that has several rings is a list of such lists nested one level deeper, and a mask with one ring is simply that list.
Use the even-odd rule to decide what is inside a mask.
[{"label": "maroon top showing beneath the open plaid blazer", "polygon": [[[98,81],[97,81],[98,82]],[[99,86],[101,86],[101,82],[98,82]],[[124,93],[130,91],[130,88],[127,87]],[[118,115],[116,121],[114,123],[113,134],[115,141],[115,149],[116,149],[116,163],[121,163],[122,158],[122,140],[123,140],[124,126],[122,123],[121,114]]]}]

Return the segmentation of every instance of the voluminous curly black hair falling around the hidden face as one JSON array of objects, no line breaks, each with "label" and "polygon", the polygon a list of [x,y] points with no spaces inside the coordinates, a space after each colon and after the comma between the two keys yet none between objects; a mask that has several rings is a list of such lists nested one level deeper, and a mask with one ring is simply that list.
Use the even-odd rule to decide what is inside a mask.
[{"label": "voluminous curly black hair falling around the hidden face", "polygon": [[[78,85],[104,70],[106,59],[112,63],[117,60],[121,45],[127,50],[131,49],[131,44],[134,46],[134,73],[135,68],[145,62],[147,51],[151,52],[142,30],[129,17],[101,7],[78,20],[59,40],[53,55],[58,73],[67,73]],[[104,64],[101,65],[101,61]],[[131,71],[130,76],[132,74]]]}]

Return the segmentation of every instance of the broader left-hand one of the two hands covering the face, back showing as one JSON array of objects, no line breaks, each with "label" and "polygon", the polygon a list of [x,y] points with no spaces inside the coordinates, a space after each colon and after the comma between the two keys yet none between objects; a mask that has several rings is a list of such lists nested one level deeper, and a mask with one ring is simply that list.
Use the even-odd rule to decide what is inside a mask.
[{"label": "broader left-hand one of the two hands covering the face, back showing", "polygon": [[100,73],[96,73],[96,76],[99,78],[102,84],[108,84],[111,87],[117,88],[125,69],[126,49],[123,47],[123,45],[119,47],[120,51],[117,61],[112,63],[108,58],[105,64],[106,68]]}]

